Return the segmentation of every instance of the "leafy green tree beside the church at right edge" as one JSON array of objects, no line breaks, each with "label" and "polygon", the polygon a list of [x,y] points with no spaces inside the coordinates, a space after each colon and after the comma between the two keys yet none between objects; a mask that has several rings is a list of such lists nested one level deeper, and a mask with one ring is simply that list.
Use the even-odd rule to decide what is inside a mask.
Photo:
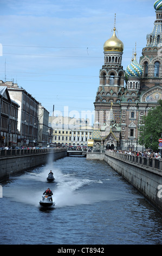
[{"label": "leafy green tree beside the church at right edge", "polygon": [[159,100],[158,106],[150,109],[147,116],[142,119],[139,132],[139,144],[157,151],[158,139],[162,133],[162,100]]}]

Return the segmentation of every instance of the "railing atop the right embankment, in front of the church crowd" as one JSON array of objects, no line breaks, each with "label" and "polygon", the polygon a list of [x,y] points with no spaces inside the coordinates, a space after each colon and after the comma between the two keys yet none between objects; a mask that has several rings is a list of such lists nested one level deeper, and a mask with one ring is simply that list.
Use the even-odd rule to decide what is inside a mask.
[{"label": "railing atop the right embankment, in front of the church crowd", "polygon": [[150,159],[150,157],[131,156],[131,155],[117,153],[115,151],[105,151],[105,154],[115,157],[116,159],[118,158],[124,161],[130,161],[138,165],[141,164],[141,166],[162,170],[162,159],[157,159],[156,157],[153,157],[152,159]]}]

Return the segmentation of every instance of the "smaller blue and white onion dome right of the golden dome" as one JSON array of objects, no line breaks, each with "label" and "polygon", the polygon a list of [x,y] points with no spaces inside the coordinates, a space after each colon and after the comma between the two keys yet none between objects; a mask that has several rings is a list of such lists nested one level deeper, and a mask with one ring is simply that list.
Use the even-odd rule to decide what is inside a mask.
[{"label": "smaller blue and white onion dome right of the golden dome", "polygon": [[125,74],[127,80],[129,77],[140,78],[142,76],[142,66],[137,62],[136,58],[132,59],[132,62],[127,66]]}]

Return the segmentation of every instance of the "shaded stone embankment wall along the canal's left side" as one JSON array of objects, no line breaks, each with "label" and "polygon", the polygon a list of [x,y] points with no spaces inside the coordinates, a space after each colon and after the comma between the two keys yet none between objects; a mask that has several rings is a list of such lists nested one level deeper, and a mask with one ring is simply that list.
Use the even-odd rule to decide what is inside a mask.
[{"label": "shaded stone embankment wall along the canal's left side", "polygon": [[10,150],[10,152],[5,152],[4,156],[0,157],[0,180],[2,181],[8,178],[12,174],[17,174],[24,170],[40,166],[41,164],[46,164],[49,159],[55,161],[65,156],[67,156],[67,150],[64,149],[29,149],[18,150],[16,153]]}]

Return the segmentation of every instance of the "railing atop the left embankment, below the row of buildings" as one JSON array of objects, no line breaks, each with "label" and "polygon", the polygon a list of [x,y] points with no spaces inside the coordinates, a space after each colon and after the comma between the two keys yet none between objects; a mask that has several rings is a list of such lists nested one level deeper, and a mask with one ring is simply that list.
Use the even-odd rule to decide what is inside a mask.
[{"label": "railing atop the left embankment, below the row of buildings", "polygon": [[0,150],[0,159],[2,157],[21,156],[21,155],[33,155],[44,154],[57,151],[67,151],[65,148],[46,148],[46,149],[3,149]]}]

